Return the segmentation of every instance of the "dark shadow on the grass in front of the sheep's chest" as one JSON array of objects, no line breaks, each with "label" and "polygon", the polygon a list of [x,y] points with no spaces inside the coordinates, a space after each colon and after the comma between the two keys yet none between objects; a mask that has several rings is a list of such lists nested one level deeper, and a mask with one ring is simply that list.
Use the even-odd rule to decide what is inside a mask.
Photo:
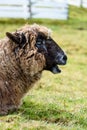
[{"label": "dark shadow on the grass in front of the sheep's chest", "polygon": [[74,118],[72,113],[59,109],[57,106],[53,106],[53,104],[46,106],[32,101],[24,102],[19,112],[27,120],[42,120],[48,123],[63,123],[65,125]]}]

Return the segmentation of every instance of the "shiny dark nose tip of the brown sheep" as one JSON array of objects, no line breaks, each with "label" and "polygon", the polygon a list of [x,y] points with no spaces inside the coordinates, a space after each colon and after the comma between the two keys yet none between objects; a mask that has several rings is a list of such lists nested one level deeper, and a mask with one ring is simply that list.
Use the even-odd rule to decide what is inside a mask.
[{"label": "shiny dark nose tip of the brown sheep", "polygon": [[66,62],[67,62],[67,56],[65,54],[59,54],[57,57],[56,57],[56,62],[57,64],[59,65],[65,65]]}]

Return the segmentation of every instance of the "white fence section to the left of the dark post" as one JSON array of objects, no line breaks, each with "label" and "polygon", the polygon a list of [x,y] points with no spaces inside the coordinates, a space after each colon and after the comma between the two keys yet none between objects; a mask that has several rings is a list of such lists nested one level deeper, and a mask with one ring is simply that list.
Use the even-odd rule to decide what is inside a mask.
[{"label": "white fence section to the left of the dark post", "polygon": [[28,0],[0,0],[0,17],[28,18]]}]

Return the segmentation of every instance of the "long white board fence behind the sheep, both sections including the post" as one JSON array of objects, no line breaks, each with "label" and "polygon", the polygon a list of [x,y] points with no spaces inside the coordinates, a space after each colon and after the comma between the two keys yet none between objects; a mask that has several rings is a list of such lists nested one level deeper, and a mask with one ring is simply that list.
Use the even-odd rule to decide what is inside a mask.
[{"label": "long white board fence behind the sheep, both sections including the post", "polygon": [[0,0],[0,17],[67,19],[65,0]]}]

